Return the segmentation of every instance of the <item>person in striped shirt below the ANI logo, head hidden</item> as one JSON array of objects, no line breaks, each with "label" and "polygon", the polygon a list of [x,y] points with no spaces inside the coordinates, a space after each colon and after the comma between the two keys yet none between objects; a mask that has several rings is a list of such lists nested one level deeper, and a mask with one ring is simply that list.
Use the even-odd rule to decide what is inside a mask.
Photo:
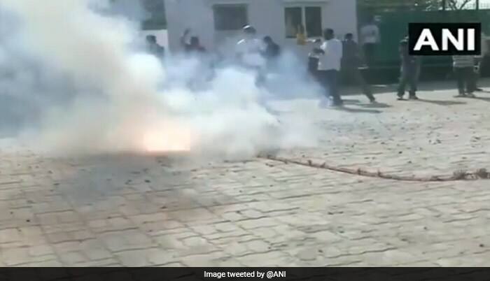
[{"label": "person in striped shirt below the ANI logo, head hidden", "polygon": [[458,85],[458,97],[475,97],[473,94],[475,87],[472,87],[475,79],[474,66],[475,56],[453,56],[453,71]]}]

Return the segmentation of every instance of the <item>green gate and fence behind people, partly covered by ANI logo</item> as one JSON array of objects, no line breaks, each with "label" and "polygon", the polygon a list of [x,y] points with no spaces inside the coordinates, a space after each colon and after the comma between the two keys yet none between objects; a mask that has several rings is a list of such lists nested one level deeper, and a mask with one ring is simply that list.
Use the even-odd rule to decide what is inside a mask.
[{"label": "green gate and fence behind people, partly covered by ANI logo", "polygon": [[[448,4],[449,1],[446,0],[446,8],[442,8],[443,0],[358,0],[359,24],[374,17],[381,37],[380,44],[374,50],[374,66],[367,73],[368,79],[397,79],[400,67],[398,45],[408,35],[409,22],[481,22],[484,33],[490,36],[490,6],[482,7],[482,4],[477,5],[477,1],[473,1],[464,7],[456,7]],[[445,76],[450,71],[449,56],[422,59],[422,72],[428,74],[423,75],[424,78]]]}]

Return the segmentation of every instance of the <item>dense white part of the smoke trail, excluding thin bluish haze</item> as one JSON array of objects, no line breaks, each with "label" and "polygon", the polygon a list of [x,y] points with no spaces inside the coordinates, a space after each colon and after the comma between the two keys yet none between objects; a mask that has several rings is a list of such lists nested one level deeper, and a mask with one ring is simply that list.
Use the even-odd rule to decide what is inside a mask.
[{"label": "dense white part of the smoke trail, excluding thin bluish haze", "polygon": [[[103,1],[97,3],[101,8]],[[22,37],[15,37],[7,50],[23,59],[26,54],[34,56],[29,62],[42,71],[30,82],[0,75],[0,85],[9,85],[16,98],[37,97],[31,100],[42,125],[41,138],[36,141],[50,151],[141,151],[148,131],[185,138],[176,131],[182,127],[196,136],[195,150],[206,154],[249,156],[271,146],[304,145],[306,139],[311,140],[306,124],[283,124],[281,131],[271,131],[276,117],[258,103],[260,92],[249,73],[223,69],[201,92],[190,92],[183,87],[185,83],[169,84],[174,81],[169,81],[158,59],[134,48],[139,38],[137,25],[123,17],[97,13],[93,5],[89,0],[0,3],[0,10],[15,14],[21,22],[15,36]],[[0,63],[5,46],[0,42]],[[18,46],[25,52],[16,50]],[[186,74],[179,80],[192,76],[188,70],[195,65],[171,64]],[[15,62],[9,65],[17,76],[28,73]],[[293,83],[289,86],[299,89],[301,82]],[[162,89],[162,84],[171,86]],[[291,134],[302,137],[291,138]],[[160,135],[153,142],[164,142]]]}]

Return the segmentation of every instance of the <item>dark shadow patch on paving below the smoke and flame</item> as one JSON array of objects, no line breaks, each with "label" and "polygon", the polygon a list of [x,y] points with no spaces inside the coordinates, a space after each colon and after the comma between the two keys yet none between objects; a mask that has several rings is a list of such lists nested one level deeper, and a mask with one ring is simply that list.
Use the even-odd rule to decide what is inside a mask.
[{"label": "dark shadow patch on paving below the smoke and flame", "polygon": [[[121,209],[128,212],[126,215],[167,213],[232,201],[230,196],[211,192],[200,173],[204,163],[190,158],[106,154],[53,159],[46,168],[55,171],[56,167],[61,177],[43,182],[39,188],[54,189],[74,210],[85,210],[88,216],[97,212],[120,215]],[[213,166],[207,164],[205,168]]]}]

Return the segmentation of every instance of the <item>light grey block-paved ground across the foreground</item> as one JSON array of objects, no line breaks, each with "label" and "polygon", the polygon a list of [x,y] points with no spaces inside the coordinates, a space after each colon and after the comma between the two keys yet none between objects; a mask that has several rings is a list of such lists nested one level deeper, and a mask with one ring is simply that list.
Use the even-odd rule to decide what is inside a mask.
[{"label": "light grey block-paved ground across the foreground", "polygon": [[[282,101],[324,134],[281,156],[416,175],[490,168],[490,94],[455,93],[379,94],[377,108],[349,96],[350,110]],[[490,266],[486,180],[0,153],[0,266]]]}]

